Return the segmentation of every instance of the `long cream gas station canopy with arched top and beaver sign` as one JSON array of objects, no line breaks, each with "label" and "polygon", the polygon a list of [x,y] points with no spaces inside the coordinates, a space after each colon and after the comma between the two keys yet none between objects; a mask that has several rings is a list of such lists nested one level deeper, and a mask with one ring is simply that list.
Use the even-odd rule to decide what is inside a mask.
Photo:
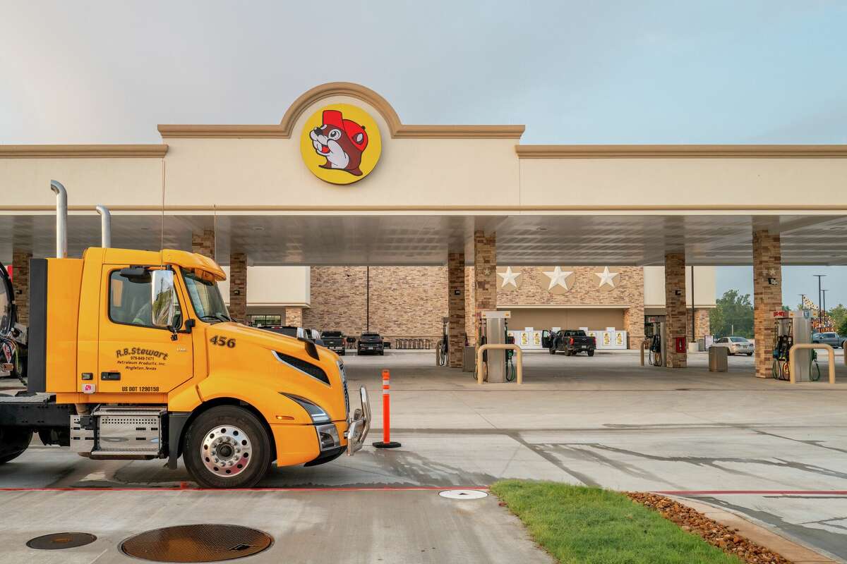
[{"label": "long cream gas station canopy with arched top and beaver sign", "polygon": [[[0,145],[0,260],[53,249],[68,189],[69,252],[191,248],[249,264],[443,265],[473,233],[501,264],[748,265],[752,232],[784,265],[847,264],[845,145],[521,145],[520,125],[402,123],[390,103],[329,83],[280,123],[159,125],[159,145]],[[468,255],[468,253],[466,253]]]}]

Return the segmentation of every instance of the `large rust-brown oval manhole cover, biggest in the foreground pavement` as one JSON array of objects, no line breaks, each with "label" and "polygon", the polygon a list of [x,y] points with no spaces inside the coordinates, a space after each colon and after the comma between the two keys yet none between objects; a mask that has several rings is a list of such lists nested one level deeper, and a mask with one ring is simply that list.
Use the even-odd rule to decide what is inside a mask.
[{"label": "large rust-brown oval manhole cover, biggest in the foreground pavement", "polygon": [[180,525],[154,528],[126,539],[120,550],[154,562],[219,562],[252,556],[274,539],[238,525]]}]

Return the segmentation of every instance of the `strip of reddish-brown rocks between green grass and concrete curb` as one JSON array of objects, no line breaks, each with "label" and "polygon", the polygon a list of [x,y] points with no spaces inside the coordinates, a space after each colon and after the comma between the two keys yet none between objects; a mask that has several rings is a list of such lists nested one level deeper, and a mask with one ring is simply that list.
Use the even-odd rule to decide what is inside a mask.
[{"label": "strip of reddish-brown rocks between green grass and concrete curb", "polygon": [[662,517],[677,523],[684,531],[700,535],[710,545],[717,546],[727,554],[738,556],[748,564],[791,564],[791,561],[776,552],[739,535],[737,528],[728,528],[665,496],[644,492],[628,492],[627,496],[645,507],[656,510]]}]

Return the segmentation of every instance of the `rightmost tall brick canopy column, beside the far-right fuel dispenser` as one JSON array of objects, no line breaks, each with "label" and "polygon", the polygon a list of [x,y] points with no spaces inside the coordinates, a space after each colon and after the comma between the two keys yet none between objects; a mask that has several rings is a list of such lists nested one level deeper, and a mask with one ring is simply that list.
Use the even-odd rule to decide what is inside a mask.
[{"label": "rightmost tall brick canopy column, beside the far-right fuel dispenser", "polygon": [[[769,283],[772,278],[775,284]],[[756,376],[771,376],[773,312],[783,309],[783,258],[779,235],[753,232],[753,337],[756,339]]]}]

